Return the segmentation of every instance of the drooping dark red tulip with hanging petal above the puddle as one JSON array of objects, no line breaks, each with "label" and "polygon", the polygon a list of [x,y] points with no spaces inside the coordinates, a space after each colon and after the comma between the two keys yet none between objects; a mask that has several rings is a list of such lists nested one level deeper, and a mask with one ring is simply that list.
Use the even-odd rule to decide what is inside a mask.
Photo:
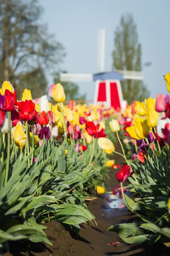
[{"label": "drooping dark red tulip with hanging petal above the puddle", "polygon": [[[119,181],[119,183],[123,183],[124,181],[126,181],[129,177],[131,177],[133,175],[134,172],[130,172],[130,166],[124,165],[121,169],[120,172],[116,173],[116,178]],[[113,189],[113,195],[116,195],[116,189],[119,188],[118,184],[114,189]]]}]

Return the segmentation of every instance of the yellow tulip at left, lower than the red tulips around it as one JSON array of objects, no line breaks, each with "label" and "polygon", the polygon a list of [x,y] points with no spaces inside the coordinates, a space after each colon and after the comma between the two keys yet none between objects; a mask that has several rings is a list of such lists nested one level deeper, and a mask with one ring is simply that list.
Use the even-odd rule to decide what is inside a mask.
[{"label": "yellow tulip at left, lower than the red tulips around it", "polygon": [[18,121],[17,125],[12,128],[12,137],[18,148],[23,148],[26,145],[27,135],[24,132],[23,125]]}]

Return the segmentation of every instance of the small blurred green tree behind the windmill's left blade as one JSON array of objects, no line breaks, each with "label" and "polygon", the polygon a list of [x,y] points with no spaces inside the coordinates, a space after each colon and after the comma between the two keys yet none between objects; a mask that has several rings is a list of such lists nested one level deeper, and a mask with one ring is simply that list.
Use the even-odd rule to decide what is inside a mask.
[{"label": "small blurred green tree behind the windmill's left blade", "polygon": [[61,83],[65,96],[67,100],[73,100],[73,99],[85,99],[85,94],[79,95],[79,86],[72,82],[61,82],[59,80],[59,74],[60,73],[67,73],[67,71],[59,71],[57,73],[54,73],[54,84]]}]

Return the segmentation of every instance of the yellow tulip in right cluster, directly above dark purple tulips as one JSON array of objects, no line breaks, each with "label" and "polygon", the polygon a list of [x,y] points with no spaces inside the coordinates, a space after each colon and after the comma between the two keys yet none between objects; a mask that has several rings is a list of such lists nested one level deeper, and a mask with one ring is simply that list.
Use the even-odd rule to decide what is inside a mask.
[{"label": "yellow tulip in right cluster, directly above dark purple tulips", "polygon": [[135,131],[138,137],[144,139],[150,132],[150,128],[147,125],[147,119],[142,117],[135,118]]}]

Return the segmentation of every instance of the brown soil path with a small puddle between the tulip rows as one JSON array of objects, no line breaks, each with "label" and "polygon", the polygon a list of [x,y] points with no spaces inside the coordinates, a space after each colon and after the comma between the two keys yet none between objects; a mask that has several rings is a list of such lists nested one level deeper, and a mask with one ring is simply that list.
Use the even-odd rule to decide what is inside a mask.
[{"label": "brown soil path with a small puddle between the tulip rows", "polygon": [[[119,156],[116,164],[121,163]],[[108,187],[117,184],[115,174],[118,170],[112,169]],[[112,185],[111,185],[112,184]],[[79,236],[73,231],[65,230],[58,222],[50,221],[44,224],[47,229],[45,233],[53,246],[44,243],[31,243],[30,247],[21,242],[11,242],[10,252],[3,256],[168,256],[170,249],[164,245],[127,244],[123,242],[115,232],[107,232],[108,227],[113,224],[137,221],[136,216],[126,208],[112,209],[109,206],[109,194],[99,196],[88,205],[88,208],[96,217],[96,225],[81,224]],[[110,246],[108,243],[119,242],[119,246]]]}]

